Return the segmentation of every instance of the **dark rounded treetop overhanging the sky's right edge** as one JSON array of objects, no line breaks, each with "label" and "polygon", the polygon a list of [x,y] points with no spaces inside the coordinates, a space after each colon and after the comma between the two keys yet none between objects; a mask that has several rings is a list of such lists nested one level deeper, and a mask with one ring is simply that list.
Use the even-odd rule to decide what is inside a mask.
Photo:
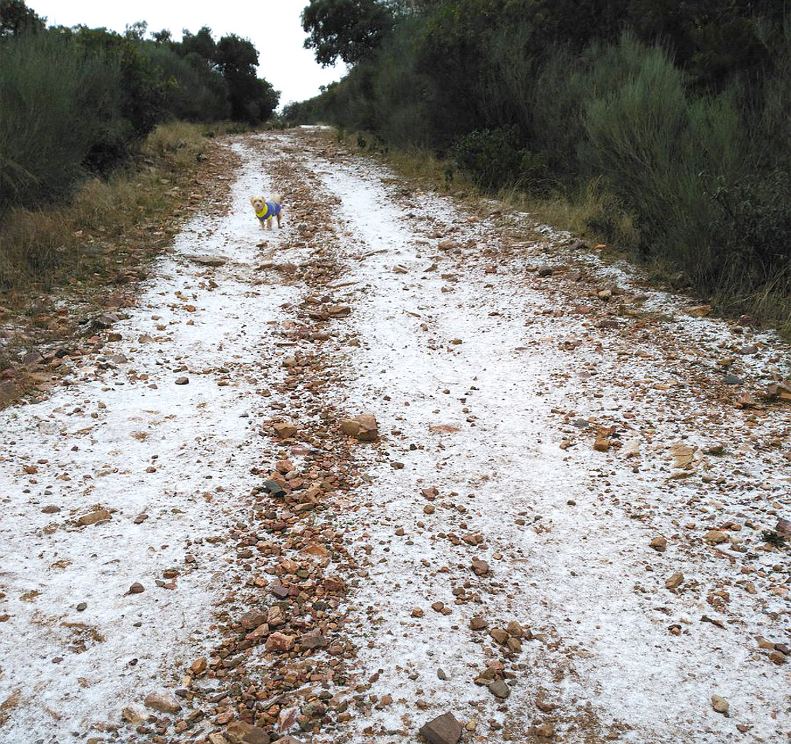
[{"label": "dark rounded treetop overhanging the sky's right edge", "polygon": [[302,11],[305,49],[326,67],[340,58],[353,65],[380,47],[394,23],[389,3],[377,0],[310,0]]}]

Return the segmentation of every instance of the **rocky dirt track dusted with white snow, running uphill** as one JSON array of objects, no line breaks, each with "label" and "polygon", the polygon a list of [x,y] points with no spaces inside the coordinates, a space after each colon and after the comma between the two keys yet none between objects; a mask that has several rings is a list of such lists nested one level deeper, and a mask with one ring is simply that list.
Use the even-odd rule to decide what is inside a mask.
[{"label": "rocky dirt track dusted with white snow, running uphill", "polygon": [[0,412],[0,742],[785,741],[788,346],[325,133],[233,149]]}]

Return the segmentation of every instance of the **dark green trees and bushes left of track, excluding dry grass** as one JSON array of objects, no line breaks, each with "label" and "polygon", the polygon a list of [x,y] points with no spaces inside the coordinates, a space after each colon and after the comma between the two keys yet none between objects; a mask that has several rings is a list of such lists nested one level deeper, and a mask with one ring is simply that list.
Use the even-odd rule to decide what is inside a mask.
[{"label": "dark green trees and bushes left of track, excluding dry grass", "polygon": [[0,216],[43,206],[85,176],[127,161],[157,123],[266,121],[279,93],[256,77],[258,52],[210,28],[146,38],[145,22],[47,28],[21,0],[0,0]]}]

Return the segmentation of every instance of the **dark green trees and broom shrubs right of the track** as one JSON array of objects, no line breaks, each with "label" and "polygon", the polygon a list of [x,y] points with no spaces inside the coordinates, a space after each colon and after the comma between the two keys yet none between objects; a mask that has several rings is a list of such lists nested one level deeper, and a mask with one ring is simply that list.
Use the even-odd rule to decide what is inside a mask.
[{"label": "dark green trees and broom shrubs right of the track", "polygon": [[596,234],[788,321],[789,17],[777,0],[312,0],[306,46],[353,66],[284,115],[585,202]]}]

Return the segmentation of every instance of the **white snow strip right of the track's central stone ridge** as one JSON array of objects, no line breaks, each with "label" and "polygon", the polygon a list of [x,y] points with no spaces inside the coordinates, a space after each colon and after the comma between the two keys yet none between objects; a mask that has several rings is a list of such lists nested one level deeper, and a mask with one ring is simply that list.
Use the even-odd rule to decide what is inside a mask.
[{"label": "white snow strip right of the track's central stone ridge", "polygon": [[[327,172],[324,163],[312,168]],[[700,551],[680,555],[673,539],[667,554],[649,549],[657,534],[679,537],[675,518],[683,499],[713,495],[701,482],[674,488],[666,481],[669,473],[661,473],[674,436],[698,439],[687,417],[699,405],[696,391],[683,391],[680,410],[660,413],[666,406],[650,395],[641,401],[623,390],[623,377],[658,382],[676,372],[657,364],[650,340],[645,347],[653,353],[646,356],[657,361],[630,358],[628,369],[617,362],[623,351],[617,339],[601,339],[604,359],[602,353],[558,353],[552,348],[558,338],[589,334],[589,324],[578,316],[539,315],[546,296],[525,285],[518,267],[516,276],[484,274],[471,252],[450,261],[437,251],[433,238],[445,236],[462,244],[471,240],[475,255],[486,247],[496,250],[486,221],[470,225],[436,197],[395,205],[381,177],[380,169],[360,161],[335,164],[324,176],[327,190],[343,203],[341,219],[354,236],[350,251],[367,256],[345,277],[359,283],[350,290],[357,303],[351,323],[363,350],[354,359],[354,385],[343,393],[350,410],[357,406],[380,417],[397,443],[390,458],[403,463],[403,469],[385,462],[372,471],[372,506],[358,526],[373,546],[370,578],[355,602],[374,611],[361,628],[370,632],[377,617],[376,641],[364,659],[370,671],[381,670],[374,691],[396,700],[380,720],[365,719],[361,726],[373,723],[376,730],[381,723],[398,741],[402,716],[418,724],[432,717],[415,711],[414,701],[423,698],[437,714],[451,709],[479,723],[492,716],[503,728],[482,741],[518,739],[547,719],[568,741],[583,740],[585,731],[609,731],[634,742],[721,742],[740,735],[736,723],[751,726],[755,741],[784,735],[789,678],[756,658],[754,636],[778,640],[785,625],[787,638],[789,623],[779,617],[788,612],[788,566],[778,567],[779,576],[762,587],[785,589],[768,601],[764,591],[751,601],[743,589],[732,588],[739,608],[737,619],[728,622],[736,627],[723,630],[699,618],[719,617],[705,597],[730,583],[728,561]],[[433,262],[437,269],[427,270]],[[394,264],[406,271],[395,273]],[[679,325],[688,336],[684,344],[708,335],[715,346],[727,335],[722,321]],[[591,360],[595,395],[581,390],[585,382],[577,378]],[[650,418],[661,450],[640,459],[639,474],[632,471],[634,461],[593,451],[592,440],[564,451],[553,415],[561,408],[576,411],[580,420],[623,413]],[[725,412],[728,417],[743,414]],[[766,431],[780,418],[771,418]],[[728,436],[729,423],[719,428],[721,436]],[[459,431],[443,432],[443,426]],[[758,511],[771,497],[782,499],[787,510],[788,463],[774,458],[767,467],[752,452],[745,455],[753,456],[740,461],[744,476],[765,489]],[[436,511],[425,515],[429,502],[421,489],[429,486],[440,495]],[[750,508],[741,489],[717,498],[723,500],[716,507],[722,521],[744,518]],[[654,518],[634,519],[629,510],[635,504],[647,504]],[[399,527],[403,534],[397,535]],[[476,550],[464,543],[455,547],[443,539],[449,532],[480,534],[485,542]],[[489,586],[470,571],[471,555],[490,562]],[[776,554],[756,559],[769,572],[777,560]],[[665,579],[676,571],[688,583],[700,583],[699,591],[677,596],[665,589]],[[455,602],[459,594],[474,599]],[[452,612],[432,610],[437,601]],[[412,617],[414,608],[424,617]],[[486,688],[471,684],[476,674],[470,667],[483,669],[486,662],[481,633],[467,629],[476,614],[491,626],[516,620],[546,636],[546,642],[523,642],[513,691],[498,712]],[[679,636],[668,633],[673,624],[683,629]],[[539,689],[558,706],[551,716],[536,708]],[[730,718],[712,710],[715,693],[729,699]]]}]

